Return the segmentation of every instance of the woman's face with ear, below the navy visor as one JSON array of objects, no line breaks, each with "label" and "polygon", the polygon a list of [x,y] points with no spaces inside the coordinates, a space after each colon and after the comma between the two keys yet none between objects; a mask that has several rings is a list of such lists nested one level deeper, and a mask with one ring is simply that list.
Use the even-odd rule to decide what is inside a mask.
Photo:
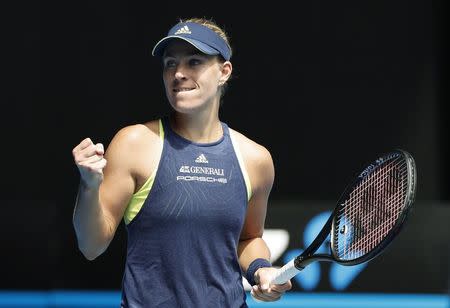
[{"label": "woman's face with ear, below the navy visor", "polygon": [[163,79],[167,98],[177,112],[218,107],[219,86],[231,74],[231,63],[201,53],[191,44],[172,41],[164,51]]}]

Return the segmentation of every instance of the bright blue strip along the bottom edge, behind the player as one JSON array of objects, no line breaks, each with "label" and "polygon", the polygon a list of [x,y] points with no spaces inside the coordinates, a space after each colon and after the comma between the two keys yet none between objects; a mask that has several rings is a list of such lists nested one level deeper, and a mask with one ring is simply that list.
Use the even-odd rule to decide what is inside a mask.
[{"label": "bright blue strip along the bottom edge, behind the player", "polygon": [[[249,307],[267,308],[450,308],[447,294],[351,294],[351,293],[287,293],[273,303],[254,301],[248,296]],[[117,291],[0,291],[0,307],[10,308],[117,308]]]}]

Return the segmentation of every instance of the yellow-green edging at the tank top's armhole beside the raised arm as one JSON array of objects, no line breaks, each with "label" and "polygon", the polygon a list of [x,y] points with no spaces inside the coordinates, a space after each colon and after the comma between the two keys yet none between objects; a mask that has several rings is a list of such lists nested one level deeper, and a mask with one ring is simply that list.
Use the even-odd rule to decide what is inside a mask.
[{"label": "yellow-green edging at the tank top's armhole beside the raised arm", "polygon": [[[159,119],[159,139],[161,141],[162,155],[162,148],[164,147],[164,127],[162,125],[161,119]],[[158,171],[158,168],[155,168],[155,170],[153,170],[152,174],[145,181],[144,185],[142,185],[142,187],[131,197],[131,200],[128,203],[127,209],[125,210],[125,214],[123,216],[126,225],[128,225],[141,210],[142,205],[144,204],[150,193],[150,190],[153,187],[153,182],[155,181],[156,177],[156,171]]]}]

